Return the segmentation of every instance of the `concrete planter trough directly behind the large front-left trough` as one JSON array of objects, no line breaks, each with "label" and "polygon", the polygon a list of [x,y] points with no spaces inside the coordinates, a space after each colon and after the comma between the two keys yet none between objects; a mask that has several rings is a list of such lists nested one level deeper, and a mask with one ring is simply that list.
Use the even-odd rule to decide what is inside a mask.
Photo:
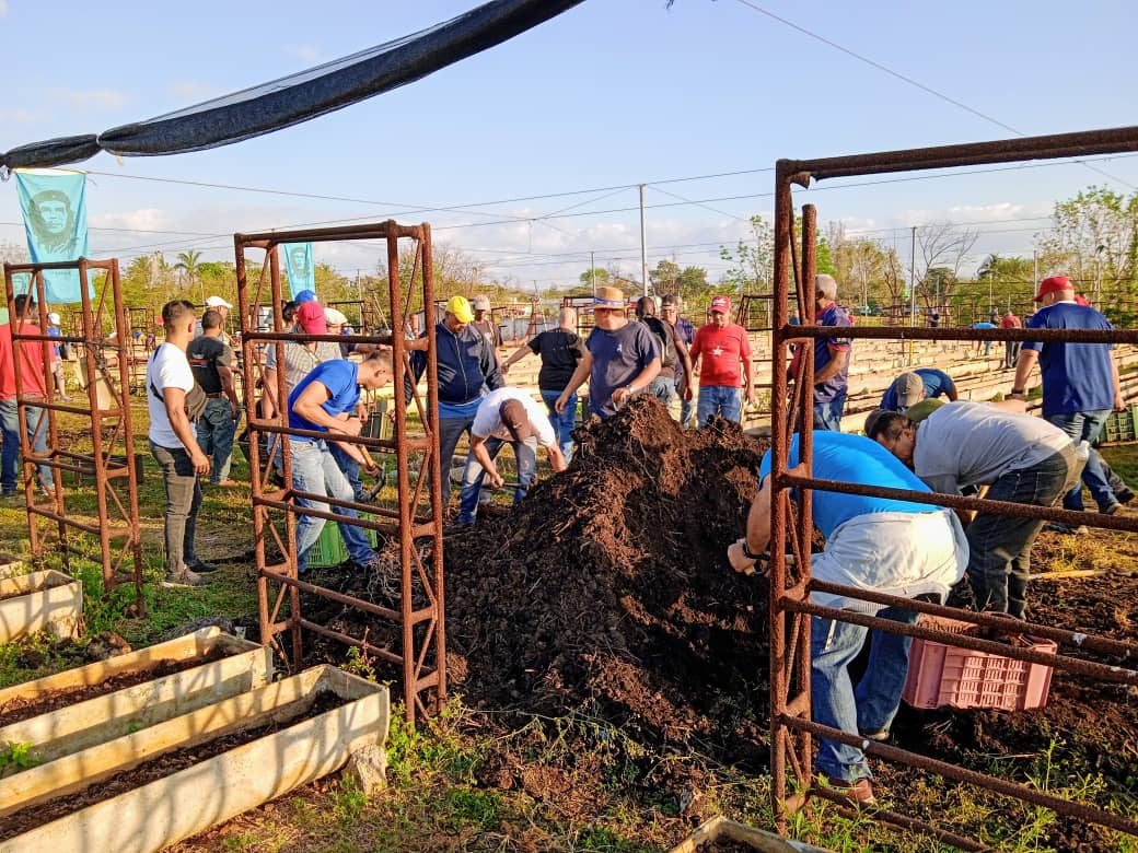
[{"label": "concrete planter trough directly behind the large front-left trough", "polygon": [[60,688],[146,672],[171,661],[205,660],[218,651],[228,656],[0,727],[0,743],[31,744],[36,760],[52,762],[247,693],[272,678],[272,653],[267,646],[207,628],[140,652],[18,685],[0,691],[0,705],[13,698],[34,698]]}]

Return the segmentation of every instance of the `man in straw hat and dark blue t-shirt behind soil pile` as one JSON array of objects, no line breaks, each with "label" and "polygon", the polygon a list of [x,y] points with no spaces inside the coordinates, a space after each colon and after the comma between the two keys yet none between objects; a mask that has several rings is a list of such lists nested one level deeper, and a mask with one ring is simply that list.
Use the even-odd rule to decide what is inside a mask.
[{"label": "man in straw hat and dark blue t-shirt behind soil pile", "polygon": [[564,412],[569,398],[588,379],[588,411],[611,417],[660,373],[655,336],[643,323],[628,322],[628,300],[620,288],[596,289],[596,325],[585,340],[585,356],[554,407]]}]

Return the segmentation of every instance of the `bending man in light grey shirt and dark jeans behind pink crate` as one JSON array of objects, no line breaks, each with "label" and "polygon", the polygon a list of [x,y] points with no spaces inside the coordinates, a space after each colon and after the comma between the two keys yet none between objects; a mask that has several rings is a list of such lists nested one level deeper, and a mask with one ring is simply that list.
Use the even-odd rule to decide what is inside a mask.
[{"label": "bending man in light grey shirt and dark jeans behind pink crate", "polygon": [[[988,486],[990,500],[1054,506],[1078,482],[1082,465],[1074,445],[1058,426],[1009,408],[922,400],[905,414],[869,413],[865,432],[933,491],[960,495]],[[1025,618],[1031,545],[1042,527],[1039,519],[976,514],[967,527],[976,610]]]}]

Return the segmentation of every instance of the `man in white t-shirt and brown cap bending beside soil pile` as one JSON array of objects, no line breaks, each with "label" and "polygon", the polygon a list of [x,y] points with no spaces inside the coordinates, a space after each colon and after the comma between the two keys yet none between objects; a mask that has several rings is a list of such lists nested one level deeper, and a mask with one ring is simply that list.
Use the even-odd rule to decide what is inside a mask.
[{"label": "man in white t-shirt and brown cap bending beside soil pile", "polygon": [[518,462],[518,488],[513,503],[526,497],[526,489],[537,472],[537,447],[545,448],[554,471],[566,470],[566,457],[544,405],[519,388],[498,388],[483,397],[470,428],[470,456],[462,472],[459,524],[473,524],[478,515],[478,492],[484,478],[500,488],[505,480],[494,465],[502,445],[510,442]]}]

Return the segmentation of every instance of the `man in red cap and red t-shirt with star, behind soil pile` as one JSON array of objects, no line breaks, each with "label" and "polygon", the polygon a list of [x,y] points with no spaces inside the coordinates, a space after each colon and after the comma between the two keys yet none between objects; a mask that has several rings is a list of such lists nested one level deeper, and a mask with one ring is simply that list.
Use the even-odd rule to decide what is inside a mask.
[{"label": "man in red cap and red t-shirt with star, behind soil pile", "polygon": [[700,426],[706,426],[711,415],[740,423],[743,411],[740,398],[740,362],[747,381],[747,401],[754,405],[754,368],[751,363],[751,342],[747,330],[732,323],[731,300],[725,296],[711,299],[711,321],[695,332],[691,356],[693,372],[700,368],[700,396],[695,405],[695,416]]}]

